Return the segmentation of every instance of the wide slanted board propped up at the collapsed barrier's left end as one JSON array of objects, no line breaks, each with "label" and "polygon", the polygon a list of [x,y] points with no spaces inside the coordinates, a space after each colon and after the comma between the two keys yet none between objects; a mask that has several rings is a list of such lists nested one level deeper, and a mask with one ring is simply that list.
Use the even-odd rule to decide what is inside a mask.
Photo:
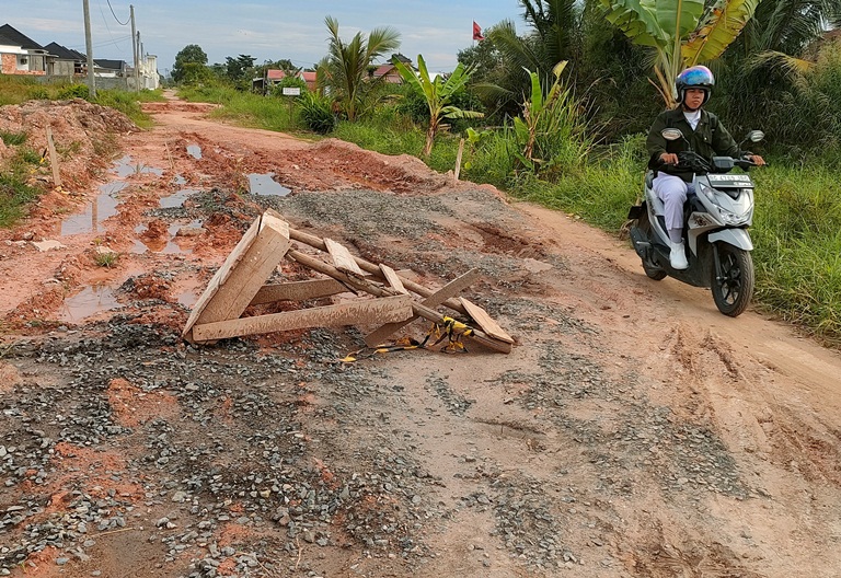
[{"label": "wide slanted board propped up at the collapsed barrier's left end", "polygon": [[242,315],[289,250],[289,226],[264,213],[254,221],[210,280],[193,310],[183,336],[194,325],[233,320]]}]

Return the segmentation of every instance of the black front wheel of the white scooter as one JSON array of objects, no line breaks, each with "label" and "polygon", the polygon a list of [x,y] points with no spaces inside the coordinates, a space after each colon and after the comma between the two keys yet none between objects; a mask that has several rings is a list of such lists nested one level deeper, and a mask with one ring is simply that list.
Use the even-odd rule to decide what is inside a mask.
[{"label": "black front wheel of the white scooter", "polygon": [[736,317],[745,312],[753,297],[753,259],[747,251],[727,243],[718,243],[716,251],[719,270],[713,267],[710,284],[713,301],[718,311]]}]

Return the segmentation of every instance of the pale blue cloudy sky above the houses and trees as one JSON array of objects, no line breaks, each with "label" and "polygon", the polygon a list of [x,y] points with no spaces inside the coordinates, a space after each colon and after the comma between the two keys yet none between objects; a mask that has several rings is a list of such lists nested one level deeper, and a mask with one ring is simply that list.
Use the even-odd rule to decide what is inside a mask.
[{"label": "pale blue cloudy sky above the houses and trees", "polygon": [[[2,0],[0,25],[10,24],[42,46],[56,42],[85,51],[84,2],[81,0]],[[256,65],[286,58],[309,68],[327,51],[325,16],[338,21],[338,35],[349,42],[390,26],[400,34],[399,53],[430,72],[448,72],[459,50],[473,45],[473,21],[484,31],[504,20],[523,27],[518,0],[89,0],[94,58],[133,63],[130,5],[143,53],[158,57],[166,74],[175,55],[189,44],[207,54],[208,63],[226,57],[254,57]],[[385,55],[379,61],[385,61]]]}]

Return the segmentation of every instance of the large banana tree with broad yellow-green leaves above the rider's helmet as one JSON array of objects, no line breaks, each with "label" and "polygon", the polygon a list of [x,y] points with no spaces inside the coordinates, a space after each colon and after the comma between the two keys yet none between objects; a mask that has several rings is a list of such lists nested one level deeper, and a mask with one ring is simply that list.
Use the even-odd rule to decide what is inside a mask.
[{"label": "large banana tree with broad yellow-green leaves above the rider's helmet", "polygon": [[601,0],[606,18],[632,43],[655,53],[657,90],[675,106],[675,79],[715,60],[736,39],[761,0]]}]

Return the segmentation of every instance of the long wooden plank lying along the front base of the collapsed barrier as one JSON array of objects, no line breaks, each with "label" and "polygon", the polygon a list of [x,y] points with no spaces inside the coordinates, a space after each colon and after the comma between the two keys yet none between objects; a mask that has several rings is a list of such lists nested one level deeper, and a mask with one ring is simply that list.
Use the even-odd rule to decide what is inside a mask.
[{"label": "long wooden plank lying along the front base of the collapsed barrier", "polygon": [[394,296],[300,311],[285,311],[272,315],[197,324],[193,327],[193,338],[196,342],[211,342],[227,337],[306,327],[368,324],[383,320],[399,321],[411,316],[412,298],[410,296]]}]

